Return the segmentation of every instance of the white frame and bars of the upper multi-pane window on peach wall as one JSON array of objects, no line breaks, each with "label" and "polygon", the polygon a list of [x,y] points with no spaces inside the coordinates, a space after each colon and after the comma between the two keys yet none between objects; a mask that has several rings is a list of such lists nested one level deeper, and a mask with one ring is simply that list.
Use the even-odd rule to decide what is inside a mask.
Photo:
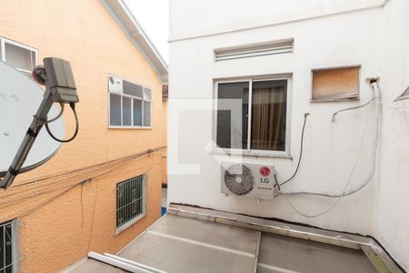
[{"label": "white frame and bars of the upper multi-pane window on peach wall", "polygon": [[[153,100],[154,100],[154,92],[153,92],[153,90],[152,90],[152,88],[151,87],[147,87],[147,86],[144,86],[144,85],[141,85],[141,84],[136,84],[136,83],[134,83],[134,82],[131,82],[131,81],[129,81],[129,82],[131,82],[131,83],[133,83],[133,84],[135,84],[135,85],[138,85],[138,86],[142,86],[142,96],[143,97],[138,97],[138,96],[131,96],[131,95],[127,95],[127,94],[124,94],[124,92],[111,92],[110,90],[109,90],[109,84],[108,84],[108,81],[109,81],[109,76],[114,76],[114,77],[116,77],[116,78],[120,78],[120,79],[122,79],[122,80],[126,80],[126,79],[124,79],[124,78],[122,78],[122,77],[120,77],[120,76],[115,76],[115,75],[113,75],[113,74],[108,74],[108,77],[107,77],[107,81],[106,81],[106,83],[107,83],[107,89],[108,89],[108,128],[113,128],[113,129],[152,129],[152,123],[153,123],[153,112],[152,112],[152,105],[153,105]],[[127,81],[127,80],[126,80]],[[146,88],[146,89],[149,89],[149,90],[151,90],[151,99],[150,100],[148,100],[148,99],[144,99],[144,88]],[[136,99],[136,100],[140,100],[140,101],[142,101],[142,106],[141,106],[141,111],[142,111],[142,126],[134,126],[134,112],[132,112],[132,116],[131,116],[131,124],[132,124],[132,126],[112,126],[111,125],[111,94],[115,94],[115,95],[118,95],[118,96],[121,96],[121,124],[122,124],[122,122],[123,122],[123,113],[122,113],[122,105],[123,105],[123,100],[122,100],[122,96],[125,96],[125,97],[130,97],[130,98],[132,98],[131,99],[131,109],[132,109],[132,111],[134,111],[134,99]],[[151,103],[151,109],[150,109],[150,113],[151,113],[151,125],[150,126],[144,126],[144,102],[150,102]]]}]

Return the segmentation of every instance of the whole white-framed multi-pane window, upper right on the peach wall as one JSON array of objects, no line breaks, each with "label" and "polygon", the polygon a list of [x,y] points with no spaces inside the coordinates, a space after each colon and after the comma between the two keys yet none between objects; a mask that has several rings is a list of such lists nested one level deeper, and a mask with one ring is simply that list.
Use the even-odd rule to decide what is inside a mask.
[{"label": "whole white-framed multi-pane window, upper right on the peach wall", "polygon": [[128,82],[117,76],[108,76],[109,126],[151,127],[152,90]]}]

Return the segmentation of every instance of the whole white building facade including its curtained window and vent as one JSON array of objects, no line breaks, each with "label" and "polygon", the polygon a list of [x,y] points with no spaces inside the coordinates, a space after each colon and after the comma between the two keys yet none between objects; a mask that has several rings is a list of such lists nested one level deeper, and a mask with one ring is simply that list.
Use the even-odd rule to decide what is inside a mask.
[{"label": "whole white building facade including its curtained window and vent", "polygon": [[[409,270],[408,101],[394,101],[409,86],[408,2],[172,0],[170,10],[168,202],[370,235]],[[378,140],[376,103],[332,122],[372,99],[374,76]],[[216,111],[224,98],[242,103],[243,120]],[[221,162],[234,160],[273,165],[279,182],[297,169],[281,190],[300,194],[226,197]],[[366,180],[348,197],[313,195]]]}]

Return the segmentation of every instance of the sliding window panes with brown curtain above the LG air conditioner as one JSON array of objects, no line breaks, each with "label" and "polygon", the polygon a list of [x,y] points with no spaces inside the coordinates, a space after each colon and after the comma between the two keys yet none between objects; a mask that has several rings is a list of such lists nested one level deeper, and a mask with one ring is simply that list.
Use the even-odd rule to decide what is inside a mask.
[{"label": "sliding window panes with brown curtain above the LG air conditioner", "polygon": [[217,147],[286,152],[288,86],[289,78],[215,82]]}]

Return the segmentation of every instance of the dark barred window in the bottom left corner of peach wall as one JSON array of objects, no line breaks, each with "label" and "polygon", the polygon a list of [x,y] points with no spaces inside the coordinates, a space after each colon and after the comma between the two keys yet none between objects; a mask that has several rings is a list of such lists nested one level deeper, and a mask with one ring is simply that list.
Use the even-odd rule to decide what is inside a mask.
[{"label": "dark barred window in the bottom left corner of peach wall", "polygon": [[18,220],[0,224],[0,273],[19,271]]}]

